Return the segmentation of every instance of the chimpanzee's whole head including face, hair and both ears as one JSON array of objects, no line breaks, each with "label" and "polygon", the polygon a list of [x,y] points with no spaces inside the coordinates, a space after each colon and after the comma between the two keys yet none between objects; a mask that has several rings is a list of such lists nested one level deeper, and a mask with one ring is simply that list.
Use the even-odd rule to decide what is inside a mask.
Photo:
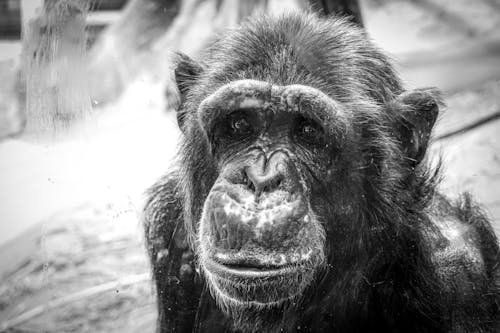
[{"label": "chimpanzee's whole head including face, hair and both ears", "polygon": [[202,62],[178,55],[175,77],[186,225],[224,310],[293,308],[313,281],[348,299],[411,246],[437,95],[405,92],[362,30],[254,19]]}]

